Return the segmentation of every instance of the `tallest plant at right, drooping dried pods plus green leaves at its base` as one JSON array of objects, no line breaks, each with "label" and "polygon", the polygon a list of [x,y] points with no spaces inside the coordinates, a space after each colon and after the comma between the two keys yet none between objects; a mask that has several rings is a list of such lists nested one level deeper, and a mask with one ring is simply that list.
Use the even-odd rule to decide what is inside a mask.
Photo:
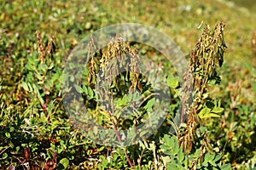
[{"label": "tallest plant at right, drooping dried pods plus green leaves at its base", "polygon": [[[224,49],[226,48],[223,31],[223,23],[218,23],[214,31],[211,31],[206,25],[196,43],[195,50],[192,50],[190,54],[189,70],[183,76],[184,84],[181,91],[177,91],[183,102],[181,119],[183,114],[186,112],[188,114],[186,125],[182,131],[176,127],[175,122],[172,122],[177,138],[175,136],[169,138],[166,135],[163,144],[160,145],[163,153],[167,155],[163,157],[164,165],[169,169],[230,169],[230,165],[216,163],[216,161],[220,161],[221,155],[216,155],[212,149],[207,128],[201,121],[204,118],[219,117],[218,114],[224,111],[220,101],[210,99],[207,94],[209,85],[220,82],[217,68],[223,65]],[[172,88],[176,87],[177,85],[172,86]],[[191,93],[194,96],[189,95]],[[188,106],[189,99],[192,97],[194,99]]]}]

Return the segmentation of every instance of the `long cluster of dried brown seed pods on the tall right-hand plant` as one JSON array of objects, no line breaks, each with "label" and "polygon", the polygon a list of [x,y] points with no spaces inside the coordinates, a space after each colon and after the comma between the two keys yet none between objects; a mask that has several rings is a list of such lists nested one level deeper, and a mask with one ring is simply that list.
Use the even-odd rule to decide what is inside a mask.
[{"label": "long cluster of dried brown seed pods on the tall right-hand plant", "polygon": [[[193,89],[195,99],[187,111],[187,127],[183,138],[184,148],[190,152],[195,142],[197,124],[201,122],[197,115],[201,110],[201,104],[205,102],[204,94],[207,94],[207,84],[210,80],[218,81],[217,69],[224,62],[224,50],[227,48],[224,42],[224,24],[218,23],[214,31],[210,31],[208,25],[204,27],[201,37],[195,44],[195,49],[190,54],[190,67],[184,74],[183,83],[183,104],[189,100],[187,89]],[[188,78],[192,75],[192,78]],[[211,150],[209,144],[205,144],[207,150]]]}]

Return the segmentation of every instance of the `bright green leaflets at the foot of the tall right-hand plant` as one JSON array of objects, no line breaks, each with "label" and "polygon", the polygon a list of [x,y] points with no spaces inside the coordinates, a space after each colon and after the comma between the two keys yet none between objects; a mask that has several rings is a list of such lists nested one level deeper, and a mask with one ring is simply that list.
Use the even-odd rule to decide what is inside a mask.
[{"label": "bright green leaflets at the foot of the tall right-hand plant", "polygon": [[179,145],[177,137],[165,135],[163,144],[160,145],[162,152],[161,161],[167,169],[230,169],[230,164],[223,164],[220,160],[222,155],[203,154],[202,147],[194,153],[183,152],[183,144]]}]

